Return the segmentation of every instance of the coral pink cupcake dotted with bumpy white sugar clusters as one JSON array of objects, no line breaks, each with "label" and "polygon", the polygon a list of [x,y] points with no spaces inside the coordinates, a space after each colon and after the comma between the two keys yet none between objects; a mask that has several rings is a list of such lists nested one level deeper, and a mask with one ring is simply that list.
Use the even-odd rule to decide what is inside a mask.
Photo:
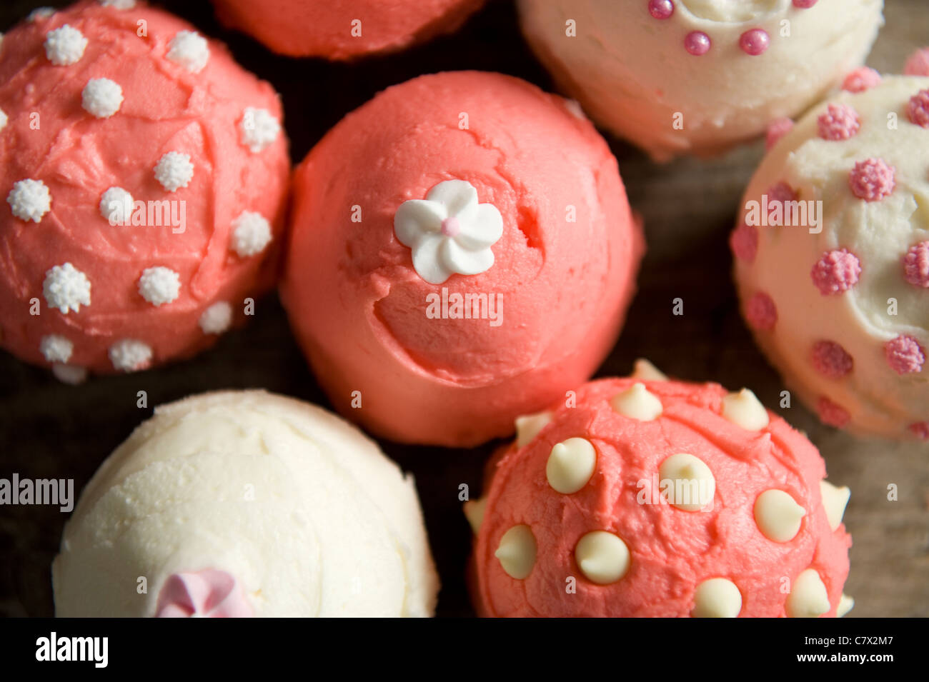
[{"label": "coral pink cupcake dotted with bumpy white sugar clusters", "polygon": [[61,380],[190,356],[275,276],[281,103],[134,0],[33,13],[0,45],[0,344]]}]

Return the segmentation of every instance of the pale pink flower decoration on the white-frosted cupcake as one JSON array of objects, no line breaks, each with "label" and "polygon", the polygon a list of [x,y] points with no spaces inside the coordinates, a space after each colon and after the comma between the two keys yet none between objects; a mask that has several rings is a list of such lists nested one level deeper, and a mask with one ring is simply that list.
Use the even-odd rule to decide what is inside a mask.
[{"label": "pale pink flower decoration on the white-frosted cupcake", "polygon": [[216,569],[173,573],[158,593],[157,618],[251,618],[235,576]]}]

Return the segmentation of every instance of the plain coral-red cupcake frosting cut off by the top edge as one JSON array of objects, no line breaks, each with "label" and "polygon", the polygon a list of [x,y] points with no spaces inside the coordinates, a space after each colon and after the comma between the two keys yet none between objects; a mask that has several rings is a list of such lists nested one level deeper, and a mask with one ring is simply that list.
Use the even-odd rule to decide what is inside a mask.
[{"label": "plain coral-red cupcake frosting cut off by the top edge", "polygon": [[[456,30],[484,0],[213,0],[223,23],[275,52],[349,59]],[[360,20],[360,35],[352,21]]]}]

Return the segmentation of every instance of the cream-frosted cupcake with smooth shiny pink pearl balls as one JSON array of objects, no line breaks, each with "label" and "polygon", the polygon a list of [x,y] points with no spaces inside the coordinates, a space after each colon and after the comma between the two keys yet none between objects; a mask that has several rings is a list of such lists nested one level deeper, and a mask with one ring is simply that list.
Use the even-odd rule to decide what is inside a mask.
[{"label": "cream-frosted cupcake with smooth shiny pink pearl balls", "polygon": [[657,160],[713,154],[860,66],[883,0],[520,0],[523,32],[596,122]]}]

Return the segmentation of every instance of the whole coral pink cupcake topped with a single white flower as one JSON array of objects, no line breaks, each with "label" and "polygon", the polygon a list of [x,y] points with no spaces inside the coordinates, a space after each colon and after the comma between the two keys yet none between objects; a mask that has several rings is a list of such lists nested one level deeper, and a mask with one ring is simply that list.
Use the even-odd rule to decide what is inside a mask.
[{"label": "whole coral pink cupcake topped with a single white flower", "polygon": [[348,114],[300,164],[281,298],[339,412],[469,446],[590,377],[642,251],[616,160],[575,107],[438,73]]}]

